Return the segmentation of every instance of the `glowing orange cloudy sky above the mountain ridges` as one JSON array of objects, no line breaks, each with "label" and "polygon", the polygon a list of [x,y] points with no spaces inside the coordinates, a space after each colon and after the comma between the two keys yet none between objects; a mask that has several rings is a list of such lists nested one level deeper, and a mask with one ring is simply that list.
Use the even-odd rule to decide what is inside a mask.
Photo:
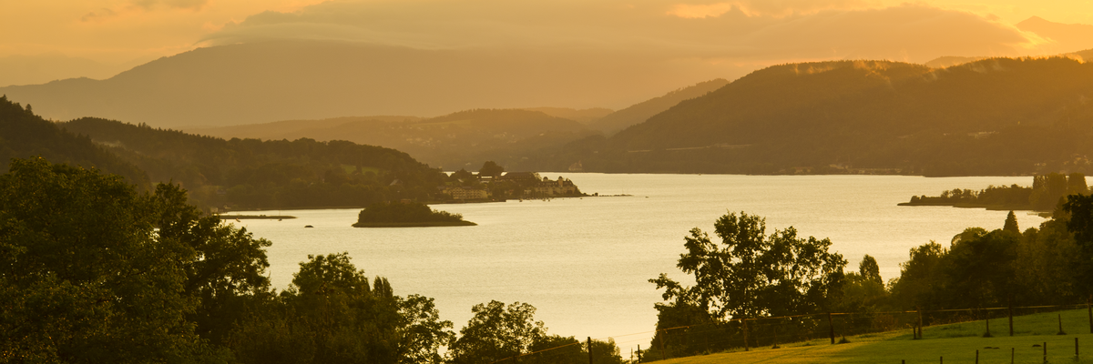
[{"label": "glowing orange cloudy sky above the mountain ridges", "polygon": [[197,47],[269,38],[615,49],[755,68],[1093,48],[1014,26],[1031,16],[1093,24],[1085,0],[0,0],[0,85],[104,79]]}]

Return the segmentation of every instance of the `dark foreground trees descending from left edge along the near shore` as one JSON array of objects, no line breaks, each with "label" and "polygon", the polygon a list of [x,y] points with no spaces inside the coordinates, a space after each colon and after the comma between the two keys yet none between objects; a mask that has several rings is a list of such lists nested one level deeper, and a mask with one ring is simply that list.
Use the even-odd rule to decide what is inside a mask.
[{"label": "dark foreground trees descending from left edge along the near shore", "polygon": [[[490,363],[576,342],[519,303],[475,306],[457,336],[432,298],[396,295],[346,254],[308,256],[277,292],[271,244],[175,185],[140,192],[95,169],[13,160],[0,175],[0,362]],[[592,350],[621,363],[613,342]],[[521,362],[588,357],[579,345],[548,353]]]}]

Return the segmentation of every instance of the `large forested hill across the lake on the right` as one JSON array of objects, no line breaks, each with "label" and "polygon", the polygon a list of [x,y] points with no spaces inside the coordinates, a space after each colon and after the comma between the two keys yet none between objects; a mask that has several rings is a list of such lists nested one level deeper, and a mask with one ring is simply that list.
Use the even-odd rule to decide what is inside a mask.
[{"label": "large forested hill across the lake on the right", "polygon": [[1091,97],[1093,63],[1068,58],[783,64],[539,161],[593,172],[1088,173]]}]

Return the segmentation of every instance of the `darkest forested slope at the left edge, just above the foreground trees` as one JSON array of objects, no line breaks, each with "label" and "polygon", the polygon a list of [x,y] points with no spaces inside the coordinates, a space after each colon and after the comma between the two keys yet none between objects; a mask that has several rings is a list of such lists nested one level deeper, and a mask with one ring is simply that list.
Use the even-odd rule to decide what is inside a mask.
[{"label": "darkest forested slope at the left edge, just above the foreground trees", "polygon": [[128,183],[148,188],[149,177],[133,164],[95,145],[90,138],[58,128],[0,96],[0,173],[7,173],[11,158],[42,156],[54,163],[67,163],[84,168],[98,168],[125,177]]}]

